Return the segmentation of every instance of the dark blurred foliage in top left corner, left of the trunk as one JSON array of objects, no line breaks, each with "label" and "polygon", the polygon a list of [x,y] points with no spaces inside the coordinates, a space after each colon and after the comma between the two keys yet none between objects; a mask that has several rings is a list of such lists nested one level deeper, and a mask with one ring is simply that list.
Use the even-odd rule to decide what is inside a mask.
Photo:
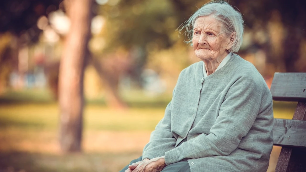
[{"label": "dark blurred foliage in top left corner, left of the trunk", "polygon": [[[41,30],[37,27],[37,20],[42,15],[59,8],[62,0],[32,1],[9,0],[0,1],[0,87],[7,83],[13,68],[19,68],[18,52],[24,47],[38,41]],[[10,41],[5,41],[10,40]],[[17,64],[16,64],[17,63]],[[19,70],[23,75],[24,70]]]}]

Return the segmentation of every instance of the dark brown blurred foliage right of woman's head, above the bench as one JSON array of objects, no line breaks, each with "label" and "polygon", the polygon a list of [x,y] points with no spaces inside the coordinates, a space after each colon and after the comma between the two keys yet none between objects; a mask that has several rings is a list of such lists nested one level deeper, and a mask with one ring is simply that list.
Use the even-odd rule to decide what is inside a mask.
[{"label": "dark brown blurred foliage right of woman's head, above the bench", "polygon": [[306,57],[301,54],[306,39],[306,1],[231,0],[245,20],[245,30],[251,32],[252,43],[240,52],[264,50],[267,64],[263,75],[274,72],[306,72]]}]

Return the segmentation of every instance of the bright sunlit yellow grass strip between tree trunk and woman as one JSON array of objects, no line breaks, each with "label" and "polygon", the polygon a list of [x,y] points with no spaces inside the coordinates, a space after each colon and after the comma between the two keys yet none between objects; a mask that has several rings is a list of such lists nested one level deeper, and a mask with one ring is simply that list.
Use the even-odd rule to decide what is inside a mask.
[{"label": "bright sunlit yellow grass strip between tree trunk and woman", "polygon": [[84,115],[86,130],[152,131],[162,119],[164,109],[111,110],[88,106]]}]

